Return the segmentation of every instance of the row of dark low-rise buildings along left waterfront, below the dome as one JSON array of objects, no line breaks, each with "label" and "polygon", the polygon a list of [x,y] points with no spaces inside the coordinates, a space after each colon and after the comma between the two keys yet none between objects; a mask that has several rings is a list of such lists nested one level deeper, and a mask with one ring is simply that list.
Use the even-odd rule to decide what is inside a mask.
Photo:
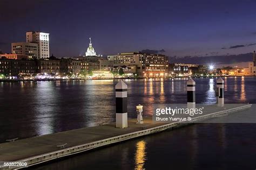
[{"label": "row of dark low-rise buildings along left waterfront, below the dome", "polygon": [[[2,54],[0,54],[2,55]],[[50,56],[47,59],[6,59],[0,57],[0,73],[10,76],[18,74],[73,74],[78,75],[89,70],[89,62],[86,60],[62,58],[57,59],[55,56]]]}]

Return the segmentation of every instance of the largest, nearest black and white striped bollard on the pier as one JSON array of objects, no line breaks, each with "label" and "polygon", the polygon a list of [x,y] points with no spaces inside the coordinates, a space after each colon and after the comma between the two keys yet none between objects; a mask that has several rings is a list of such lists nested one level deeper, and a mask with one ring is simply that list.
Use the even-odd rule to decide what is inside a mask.
[{"label": "largest, nearest black and white striped bollard on the pier", "polygon": [[127,84],[116,84],[116,128],[127,128]]}]

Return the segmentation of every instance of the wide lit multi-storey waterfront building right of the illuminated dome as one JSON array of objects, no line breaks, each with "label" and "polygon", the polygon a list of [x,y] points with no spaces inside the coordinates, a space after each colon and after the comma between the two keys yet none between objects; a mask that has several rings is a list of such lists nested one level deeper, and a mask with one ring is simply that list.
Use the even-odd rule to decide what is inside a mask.
[{"label": "wide lit multi-storey waterfront building right of the illuminated dome", "polygon": [[107,59],[113,61],[113,67],[136,67],[133,74],[139,77],[168,76],[168,56],[142,52],[119,53],[109,55]]}]

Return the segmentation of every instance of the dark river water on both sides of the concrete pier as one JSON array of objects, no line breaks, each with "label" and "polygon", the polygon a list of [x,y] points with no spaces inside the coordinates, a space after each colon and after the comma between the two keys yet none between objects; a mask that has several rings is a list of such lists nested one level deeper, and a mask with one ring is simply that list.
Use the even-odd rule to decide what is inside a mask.
[{"label": "dark river water on both sides of the concrete pier", "polygon": [[[186,103],[187,79],[125,80],[135,106]],[[194,79],[197,103],[215,103],[215,78]],[[113,122],[116,80],[0,82],[0,143]],[[256,103],[256,77],[226,77],[225,103]],[[196,124],[87,152],[37,169],[255,169],[256,124]]]}]

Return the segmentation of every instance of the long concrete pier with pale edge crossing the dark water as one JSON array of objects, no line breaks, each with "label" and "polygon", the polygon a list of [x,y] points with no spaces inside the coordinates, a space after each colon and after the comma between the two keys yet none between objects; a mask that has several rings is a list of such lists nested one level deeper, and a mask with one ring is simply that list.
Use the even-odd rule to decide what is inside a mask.
[{"label": "long concrete pier with pale edge crossing the dark water", "polygon": [[[214,107],[214,112],[212,112]],[[192,118],[188,123],[196,123],[235,111],[250,108],[251,104],[237,104],[235,107],[221,108],[214,105],[205,108],[206,115]],[[28,166],[45,161],[85,152],[96,147],[118,143],[120,141],[145,136],[166,129],[183,126],[186,122],[153,123],[152,117],[144,117],[144,124],[136,124],[137,119],[128,119],[128,127],[115,128],[116,123],[82,128],[65,132],[47,134],[28,139],[15,140],[0,144],[0,169],[15,169],[19,167],[3,166],[4,162],[26,162]],[[62,146],[62,147],[58,147]]]}]

